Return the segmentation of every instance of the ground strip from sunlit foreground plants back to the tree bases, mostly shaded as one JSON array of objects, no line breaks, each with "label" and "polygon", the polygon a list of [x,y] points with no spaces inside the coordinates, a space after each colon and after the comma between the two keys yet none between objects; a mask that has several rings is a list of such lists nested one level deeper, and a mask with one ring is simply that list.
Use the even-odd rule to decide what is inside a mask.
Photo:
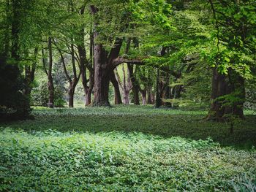
[{"label": "ground strip from sunlit foreground plants back to the tree bases, mostly shaded", "polygon": [[246,120],[234,126],[230,134],[229,123],[205,121],[205,111],[183,111],[155,109],[152,106],[114,106],[85,108],[37,107],[33,110],[35,120],[0,123],[0,128],[23,129],[25,131],[90,131],[140,132],[162,137],[184,137],[207,139],[223,146],[250,149],[256,146],[256,116],[246,115]]}]

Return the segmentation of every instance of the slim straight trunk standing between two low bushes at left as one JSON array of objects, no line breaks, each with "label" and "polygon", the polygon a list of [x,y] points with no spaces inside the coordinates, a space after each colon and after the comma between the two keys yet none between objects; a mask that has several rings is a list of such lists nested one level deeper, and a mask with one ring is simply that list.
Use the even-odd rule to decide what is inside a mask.
[{"label": "slim straight trunk standing between two low bushes at left", "polygon": [[48,38],[48,51],[49,51],[49,69],[48,69],[48,91],[49,91],[49,101],[48,107],[54,107],[54,85],[53,85],[53,49],[52,49],[52,39]]}]

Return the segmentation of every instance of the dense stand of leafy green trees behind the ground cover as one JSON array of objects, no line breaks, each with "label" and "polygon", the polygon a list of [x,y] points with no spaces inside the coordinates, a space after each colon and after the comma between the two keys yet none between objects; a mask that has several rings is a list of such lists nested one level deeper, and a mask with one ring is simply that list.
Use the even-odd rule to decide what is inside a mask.
[{"label": "dense stand of leafy green trees behind the ground cover", "polygon": [[1,118],[81,104],[244,118],[256,101],[255,4],[1,0]]}]

